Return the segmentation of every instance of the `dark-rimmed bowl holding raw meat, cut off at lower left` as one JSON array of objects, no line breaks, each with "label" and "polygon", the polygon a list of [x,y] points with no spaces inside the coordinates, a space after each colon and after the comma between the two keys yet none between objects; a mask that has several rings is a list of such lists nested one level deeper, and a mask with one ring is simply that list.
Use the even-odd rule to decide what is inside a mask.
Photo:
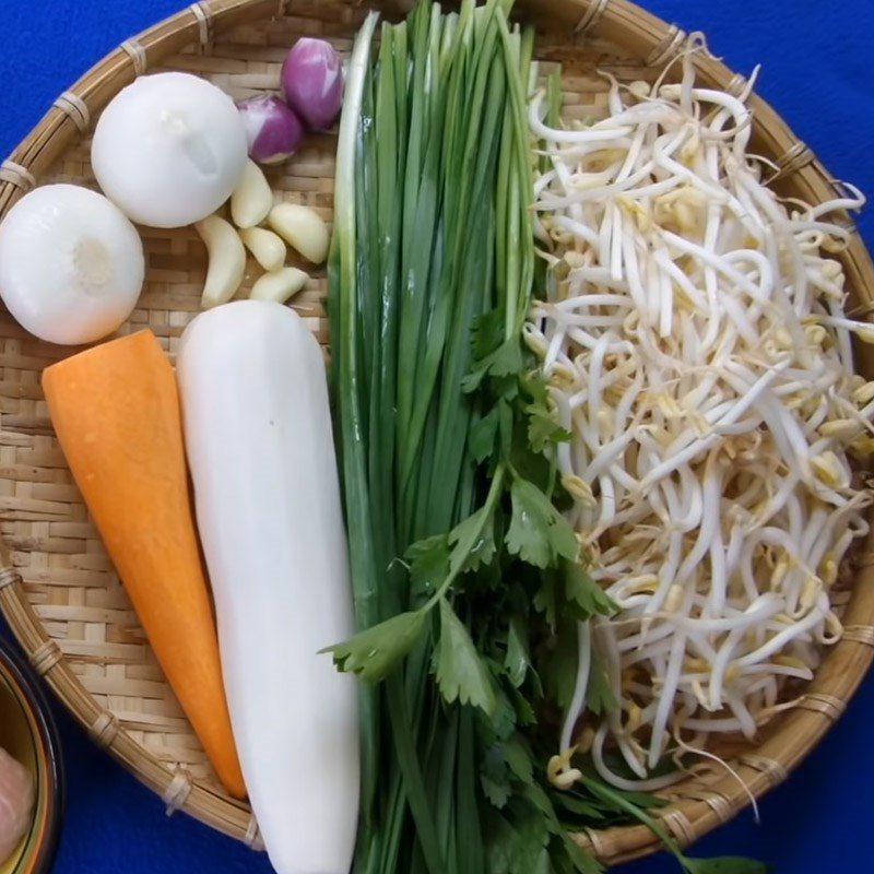
[{"label": "dark-rimmed bowl holding raw meat, cut off at lower left", "polygon": [[34,778],[36,802],[31,829],[0,874],[48,874],[63,818],[63,770],[58,729],[29,668],[0,639],[0,746]]}]

